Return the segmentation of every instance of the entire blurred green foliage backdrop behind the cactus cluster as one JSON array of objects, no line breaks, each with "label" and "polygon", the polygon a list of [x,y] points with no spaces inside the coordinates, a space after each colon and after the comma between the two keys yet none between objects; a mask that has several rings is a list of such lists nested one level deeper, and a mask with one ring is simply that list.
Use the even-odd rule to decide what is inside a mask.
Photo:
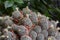
[{"label": "entire blurred green foliage backdrop behind the cactus cluster", "polygon": [[[30,4],[28,4],[28,1]],[[55,3],[51,0],[0,0],[0,15],[11,15],[16,7],[21,10],[27,5],[33,11],[39,11],[50,19],[60,21],[60,9],[55,7]]]}]

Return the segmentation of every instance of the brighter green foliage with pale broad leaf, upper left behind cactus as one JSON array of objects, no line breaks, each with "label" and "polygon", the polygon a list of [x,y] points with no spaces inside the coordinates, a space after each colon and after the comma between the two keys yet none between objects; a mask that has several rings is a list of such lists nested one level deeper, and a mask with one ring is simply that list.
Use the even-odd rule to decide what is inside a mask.
[{"label": "brighter green foliage with pale broad leaf, upper left behind cactus", "polygon": [[11,15],[12,11],[16,10],[16,7],[22,9],[27,6],[27,2],[23,0],[0,0],[0,15]]}]

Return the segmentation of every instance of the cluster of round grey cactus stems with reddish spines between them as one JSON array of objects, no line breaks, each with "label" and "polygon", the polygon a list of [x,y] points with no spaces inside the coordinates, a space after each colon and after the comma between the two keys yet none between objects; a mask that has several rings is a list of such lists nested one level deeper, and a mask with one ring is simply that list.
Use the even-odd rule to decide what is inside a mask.
[{"label": "cluster of round grey cactus stems with reddish spines between them", "polygon": [[28,8],[0,17],[0,40],[60,40],[56,21]]}]

